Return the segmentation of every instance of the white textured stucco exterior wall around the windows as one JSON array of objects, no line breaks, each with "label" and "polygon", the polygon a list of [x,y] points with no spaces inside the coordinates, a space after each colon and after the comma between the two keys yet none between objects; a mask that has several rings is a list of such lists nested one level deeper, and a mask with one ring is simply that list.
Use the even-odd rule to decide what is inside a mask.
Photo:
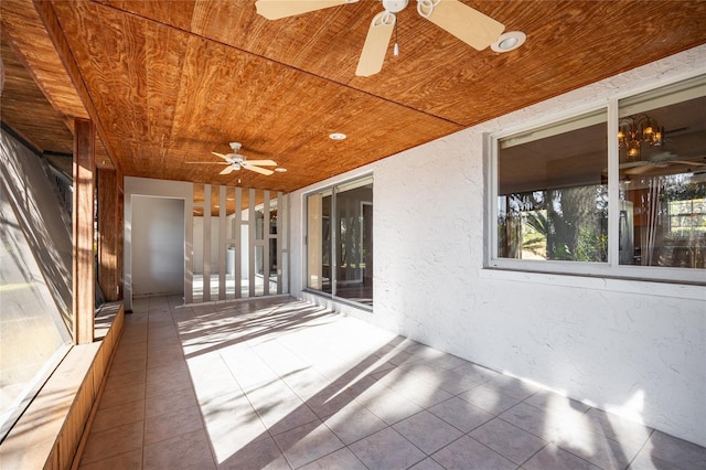
[{"label": "white textured stucco exterior wall around the windows", "polygon": [[[292,193],[292,295],[705,446],[706,289],[483,268],[485,132],[700,73],[706,46]],[[302,291],[306,194],[370,172],[372,313]]]}]

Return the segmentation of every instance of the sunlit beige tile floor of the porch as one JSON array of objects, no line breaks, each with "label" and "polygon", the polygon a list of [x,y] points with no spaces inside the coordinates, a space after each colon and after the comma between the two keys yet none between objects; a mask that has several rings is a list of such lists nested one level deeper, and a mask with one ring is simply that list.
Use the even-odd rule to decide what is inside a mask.
[{"label": "sunlit beige tile floor of the porch", "polygon": [[139,299],[81,468],[704,469],[706,449],[288,297]]}]

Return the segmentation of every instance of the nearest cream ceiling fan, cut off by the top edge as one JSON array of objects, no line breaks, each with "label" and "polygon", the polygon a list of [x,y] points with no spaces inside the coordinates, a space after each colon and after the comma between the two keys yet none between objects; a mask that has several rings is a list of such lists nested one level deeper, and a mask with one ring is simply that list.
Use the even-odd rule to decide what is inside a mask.
[{"label": "nearest cream ceiling fan, cut off by the top edge", "polygon": [[[397,23],[397,13],[409,0],[381,0],[384,11],[377,13],[367,31],[355,75],[371,76],[383,68],[385,53]],[[414,0],[413,0],[414,1]],[[505,26],[459,0],[416,0],[417,12],[471,47],[481,51],[495,43]],[[357,0],[257,0],[257,12],[268,20],[308,13]],[[395,44],[395,55],[397,55]]]}]

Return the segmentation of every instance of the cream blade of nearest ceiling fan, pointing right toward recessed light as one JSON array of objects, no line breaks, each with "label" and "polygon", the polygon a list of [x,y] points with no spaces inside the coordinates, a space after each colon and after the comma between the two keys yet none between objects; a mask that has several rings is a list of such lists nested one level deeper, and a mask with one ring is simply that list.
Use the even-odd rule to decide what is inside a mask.
[{"label": "cream blade of nearest ceiling fan, pointing right toward recessed light", "polygon": [[422,13],[421,3],[418,10],[424,18],[478,51],[498,41],[505,30],[504,24],[459,0],[441,0],[428,17]]}]

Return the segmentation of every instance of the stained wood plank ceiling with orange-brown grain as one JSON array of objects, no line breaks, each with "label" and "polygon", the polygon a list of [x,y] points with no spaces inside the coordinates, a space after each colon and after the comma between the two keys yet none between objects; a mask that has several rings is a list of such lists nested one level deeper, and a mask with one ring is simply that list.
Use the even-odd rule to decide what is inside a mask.
[{"label": "stained wood plank ceiling with orange-brown grain", "polygon": [[[89,117],[99,164],[125,175],[290,192],[706,43],[703,1],[463,2],[527,42],[472,50],[410,2],[399,56],[356,77],[377,1],[268,21],[245,0],[2,0],[2,120],[40,150],[66,152],[73,117]],[[15,82],[28,76],[56,110],[42,122],[19,105],[30,92]],[[288,171],[186,163],[216,161],[231,141]]]}]

